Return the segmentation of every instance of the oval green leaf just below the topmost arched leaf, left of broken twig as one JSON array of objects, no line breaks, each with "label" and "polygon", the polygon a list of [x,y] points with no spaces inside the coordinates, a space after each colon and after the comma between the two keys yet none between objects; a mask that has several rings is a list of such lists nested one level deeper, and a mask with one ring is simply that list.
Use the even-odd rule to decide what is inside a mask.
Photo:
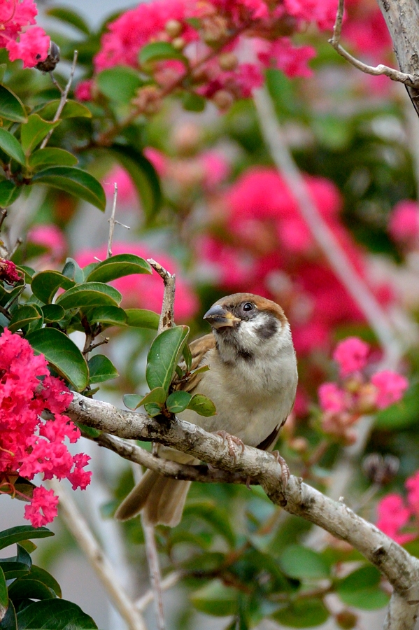
[{"label": "oval green leaf just below the topmost arched leaf, left of broken twig", "polygon": [[57,297],[56,303],[64,309],[91,309],[97,306],[118,306],[122,295],[103,282],[76,284]]}]

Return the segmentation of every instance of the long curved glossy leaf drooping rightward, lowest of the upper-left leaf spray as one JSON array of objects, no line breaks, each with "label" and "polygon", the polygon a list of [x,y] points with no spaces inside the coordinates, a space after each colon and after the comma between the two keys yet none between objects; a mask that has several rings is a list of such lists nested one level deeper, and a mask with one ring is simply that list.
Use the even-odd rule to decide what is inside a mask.
[{"label": "long curved glossy leaf drooping rightward, lowest of the upper-left leaf spray", "polygon": [[94,176],[81,169],[66,166],[49,167],[36,173],[31,183],[45,183],[80,197],[99,210],[106,208],[106,196],[101,184]]}]

